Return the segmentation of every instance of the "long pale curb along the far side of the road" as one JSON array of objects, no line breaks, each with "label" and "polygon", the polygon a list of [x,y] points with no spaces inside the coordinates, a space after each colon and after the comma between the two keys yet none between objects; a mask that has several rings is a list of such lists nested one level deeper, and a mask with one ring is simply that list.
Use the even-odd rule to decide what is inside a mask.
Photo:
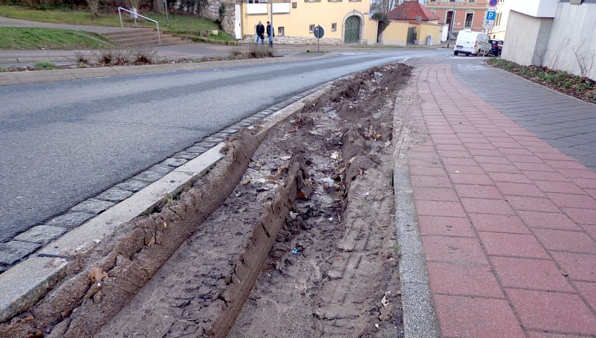
[{"label": "long pale curb along the far side of the road", "polygon": [[[317,58],[331,57],[335,54],[329,53]],[[48,58],[44,58],[47,60]],[[51,58],[50,58],[51,59]],[[310,58],[312,60],[314,58]],[[0,86],[11,84],[31,84],[39,82],[65,81],[76,79],[91,79],[104,76],[119,76],[131,74],[150,74],[167,71],[192,71],[198,69],[211,69],[223,65],[246,66],[259,64],[277,64],[288,61],[299,61],[302,58],[297,56],[276,57],[267,59],[244,59],[226,61],[205,61],[187,64],[151,64],[143,66],[114,66],[97,68],[75,68],[75,69],[53,69],[44,71],[7,71],[0,73]]]}]

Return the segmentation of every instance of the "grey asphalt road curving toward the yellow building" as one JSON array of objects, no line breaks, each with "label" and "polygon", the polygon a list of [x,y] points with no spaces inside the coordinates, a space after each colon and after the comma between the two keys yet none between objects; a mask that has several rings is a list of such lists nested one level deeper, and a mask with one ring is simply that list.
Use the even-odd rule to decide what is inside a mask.
[{"label": "grey asphalt road curving toward the yellow building", "polygon": [[446,49],[0,87],[0,242],[255,112],[340,76]]}]

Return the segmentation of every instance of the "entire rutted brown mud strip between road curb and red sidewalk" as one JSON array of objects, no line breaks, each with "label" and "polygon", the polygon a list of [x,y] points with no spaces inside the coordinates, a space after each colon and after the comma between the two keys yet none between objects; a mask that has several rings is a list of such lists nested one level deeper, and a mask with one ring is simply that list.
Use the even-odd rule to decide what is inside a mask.
[{"label": "entire rutted brown mud strip between road curb and red sidewalk", "polygon": [[0,337],[401,337],[392,121],[410,69],[355,74],[235,136]]}]

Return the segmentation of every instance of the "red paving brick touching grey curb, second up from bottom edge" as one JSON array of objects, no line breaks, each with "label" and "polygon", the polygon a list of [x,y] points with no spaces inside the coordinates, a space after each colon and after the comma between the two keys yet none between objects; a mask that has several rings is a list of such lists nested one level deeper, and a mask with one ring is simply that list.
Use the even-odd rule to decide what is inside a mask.
[{"label": "red paving brick touching grey curb, second up from bottom edge", "polygon": [[430,287],[434,293],[504,297],[488,265],[429,262],[427,268]]}]

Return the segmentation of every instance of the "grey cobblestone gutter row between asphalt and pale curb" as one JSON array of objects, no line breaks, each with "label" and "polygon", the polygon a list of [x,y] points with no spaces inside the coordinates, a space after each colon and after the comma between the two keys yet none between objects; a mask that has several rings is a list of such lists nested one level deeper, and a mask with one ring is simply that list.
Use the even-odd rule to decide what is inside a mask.
[{"label": "grey cobblestone gutter row between asphalt and pale curb", "polygon": [[215,134],[207,136],[201,141],[197,141],[197,143],[189,148],[179,151],[169,158],[164,159],[164,161],[149,167],[149,169],[146,169],[144,172],[136,174],[130,179],[116,184],[114,187],[101,192],[101,194],[98,194],[95,197],[91,197],[84,202],[76,204],[64,214],[51,218],[44,222],[44,224],[32,227],[25,232],[21,232],[21,234],[16,235],[16,237],[9,242],[0,244],[0,273],[5,272],[10,267],[23,261],[31,254],[34,254],[45,244],[61,237],[61,235],[66,234],[66,232],[69,232],[71,229],[79,227],[81,224],[84,224],[84,222],[89,221],[89,219],[106,211],[109,207],[124,201],[124,199],[131,197],[135,192],[139,192],[139,190],[147,187],[149,184],[161,179],[178,166],[182,166],[187,163],[187,161],[203,154],[228,136],[231,136],[247,126],[251,126],[255,121],[273,114],[275,111],[302,99],[304,96],[312,94],[322,86],[317,86],[314,89],[292,96],[291,98],[279,102],[278,104],[274,104],[273,106],[269,106],[267,109],[259,111],[252,116],[244,118]]}]

